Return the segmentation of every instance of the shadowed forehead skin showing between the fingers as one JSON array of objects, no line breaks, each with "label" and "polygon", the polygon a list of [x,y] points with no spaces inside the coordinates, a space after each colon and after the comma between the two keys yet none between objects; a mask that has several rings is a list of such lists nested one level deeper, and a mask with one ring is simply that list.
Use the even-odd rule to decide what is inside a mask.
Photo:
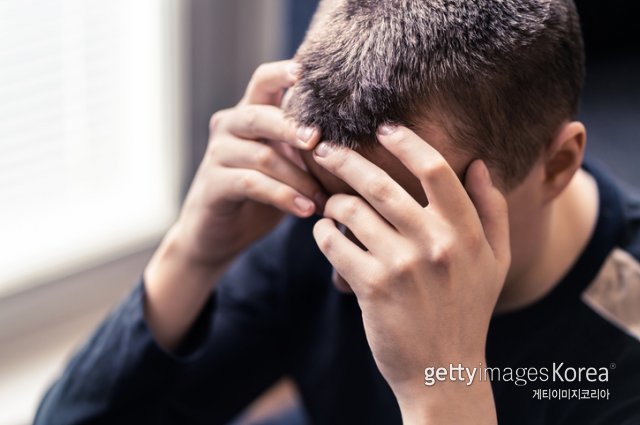
[{"label": "shadowed forehead skin showing between the fingers", "polygon": [[[443,132],[439,130],[418,130],[417,133],[423,140],[407,140],[406,143],[429,143],[442,154],[451,168],[453,168],[458,178],[463,181],[464,172],[473,158],[456,151]],[[393,180],[413,196],[416,201],[426,205],[424,190],[422,189],[422,185],[418,178],[382,145],[376,145],[375,147],[368,148],[366,150],[358,150],[358,153],[385,171]],[[313,159],[312,152],[301,151],[300,154],[308,172],[320,182],[327,194],[333,195],[336,193],[346,193],[350,195],[357,195],[357,192],[349,184],[340,180],[318,165],[318,163]],[[359,178],[366,180],[368,176],[366,174],[362,174]]]}]

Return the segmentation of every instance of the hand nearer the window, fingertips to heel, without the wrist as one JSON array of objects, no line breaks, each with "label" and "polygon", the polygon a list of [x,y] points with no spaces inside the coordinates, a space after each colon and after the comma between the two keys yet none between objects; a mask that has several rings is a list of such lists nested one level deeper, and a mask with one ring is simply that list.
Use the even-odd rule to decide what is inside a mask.
[{"label": "hand nearer the window, fingertips to heel, without the wrist", "polygon": [[200,264],[228,263],[285,213],[308,217],[326,201],[294,149],[312,149],[319,132],[296,128],[279,108],[296,81],[292,65],[262,65],[240,104],[211,118],[209,146],[177,223],[182,246]]}]

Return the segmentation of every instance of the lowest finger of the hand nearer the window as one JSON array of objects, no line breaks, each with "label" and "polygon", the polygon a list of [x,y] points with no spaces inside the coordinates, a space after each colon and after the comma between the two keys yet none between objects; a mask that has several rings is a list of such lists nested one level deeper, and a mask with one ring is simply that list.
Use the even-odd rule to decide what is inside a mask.
[{"label": "lowest finger of the hand nearer the window", "polygon": [[230,201],[242,202],[251,199],[298,217],[309,217],[315,211],[314,203],[291,186],[256,170],[229,170]]}]

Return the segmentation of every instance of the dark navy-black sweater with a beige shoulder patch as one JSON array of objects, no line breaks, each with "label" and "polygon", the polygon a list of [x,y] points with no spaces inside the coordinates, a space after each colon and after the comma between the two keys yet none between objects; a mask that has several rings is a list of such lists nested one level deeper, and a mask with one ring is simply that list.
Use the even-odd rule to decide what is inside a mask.
[{"label": "dark navy-black sweater with a beige shoulder patch", "polygon": [[[640,201],[589,171],[600,212],[586,250],[542,300],[491,322],[500,424],[640,424]],[[69,362],[35,423],[225,423],[284,375],[313,423],[401,423],[356,298],[331,284],[314,221],[287,219],[247,250],[175,355],[154,342],[139,284]]]}]

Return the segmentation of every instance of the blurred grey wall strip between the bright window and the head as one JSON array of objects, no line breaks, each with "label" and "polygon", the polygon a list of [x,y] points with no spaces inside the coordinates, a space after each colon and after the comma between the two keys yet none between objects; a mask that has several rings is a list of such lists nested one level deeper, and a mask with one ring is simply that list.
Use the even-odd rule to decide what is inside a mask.
[{"label": "blurred grey wall strip between the bright window and the head", "polygon": [[259,64],[287,57],[288,5],[287,0],[189,0],[185,116],[190,147],[184,191],[207,146],[211,115],[240,99]]}]

